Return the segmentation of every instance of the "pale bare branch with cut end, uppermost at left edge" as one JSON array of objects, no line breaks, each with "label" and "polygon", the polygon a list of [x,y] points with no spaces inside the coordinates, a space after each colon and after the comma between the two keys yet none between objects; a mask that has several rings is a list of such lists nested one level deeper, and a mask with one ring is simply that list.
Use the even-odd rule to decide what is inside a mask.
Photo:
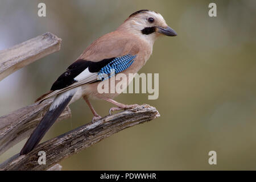
[{"label": "pale bare branch with cut end, uppermost at left edge", "polygon": [[61,39],[50,32],[0,51],[0,81],[18,69],[59,51]]}]

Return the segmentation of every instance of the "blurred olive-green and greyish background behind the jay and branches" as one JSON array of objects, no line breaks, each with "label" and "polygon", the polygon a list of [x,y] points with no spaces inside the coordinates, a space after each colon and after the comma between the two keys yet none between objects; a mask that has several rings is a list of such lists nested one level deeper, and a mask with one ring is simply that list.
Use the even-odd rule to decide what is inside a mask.
[{"label": "blurred olive-green and greyish background behind the jay and branches", "polygon": [[[38,16],[38,3],[47,16]],[[217,17],[208,16],[210,2]],[[161,117],[131,127],[63,160],[64,170],[256,169],[256,1],[12,1],[0,0],[0,49],[52,32],[61,50],[0,82],[0,115],[33,103],[93,40],[140,9],[158,11],[176,37],[156,40],[139,73],[159,73],[159,98],[121,94],[150,104]],[[112,106],[92,101],[102,116]],[[92,119],[83,100],[72,118],[55,123],[44,141]],[[0,156],[18,153],[20,142]],[[208,152],[217,152],[210,166]]]}]

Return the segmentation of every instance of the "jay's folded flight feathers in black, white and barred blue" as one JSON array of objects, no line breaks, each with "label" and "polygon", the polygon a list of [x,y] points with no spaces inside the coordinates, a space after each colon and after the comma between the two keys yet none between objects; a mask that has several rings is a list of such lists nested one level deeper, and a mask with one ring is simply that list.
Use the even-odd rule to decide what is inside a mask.
[{"label": "jay's folded flight feathers in black, white and barred blue", "polygon": [[134,63],[136,56],[128,54],[98,62],[77,60],[68,67],[67,71],[57,78],[51,87],[51,92],[39,97],[36,102],[42,102],[49,97],[56,96],[59,93],[80,85],[106,80],[129,68]]}]

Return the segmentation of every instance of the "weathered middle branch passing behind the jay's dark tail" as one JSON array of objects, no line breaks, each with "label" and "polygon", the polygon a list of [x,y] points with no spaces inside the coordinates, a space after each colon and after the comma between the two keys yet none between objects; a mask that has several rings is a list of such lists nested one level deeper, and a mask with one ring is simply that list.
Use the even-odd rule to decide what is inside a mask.
[{"label": "weathered middle branch passing behind the jay's dark tail", "polygon": [[[52,101],[49,99],[39,105],[32,104],[0,117],[0,155],[32,133]],[[71,110],[66,107],[58,121],[69,117]]]}]

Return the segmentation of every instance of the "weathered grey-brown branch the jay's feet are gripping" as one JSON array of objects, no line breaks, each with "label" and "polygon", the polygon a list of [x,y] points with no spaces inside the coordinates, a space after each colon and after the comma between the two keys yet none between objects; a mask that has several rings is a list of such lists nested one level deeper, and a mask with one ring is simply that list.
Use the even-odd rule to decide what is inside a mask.
[{"label": "weathered grey-brown branch the jay's feet are gripping", "polygon": [[[141,105],[134,109],[108,115],[94,123],[88,123],[39,144],[27,155],[14,155],[0,164],[0,170],[46,170],[60,162],[60,160],[68,158],[68,156],[76,154],[118,131],[151,121],[159,116],[160,114],[155,107],[149,105]],[[46,164],[38,164],[39,151],[46,152]]]}]

